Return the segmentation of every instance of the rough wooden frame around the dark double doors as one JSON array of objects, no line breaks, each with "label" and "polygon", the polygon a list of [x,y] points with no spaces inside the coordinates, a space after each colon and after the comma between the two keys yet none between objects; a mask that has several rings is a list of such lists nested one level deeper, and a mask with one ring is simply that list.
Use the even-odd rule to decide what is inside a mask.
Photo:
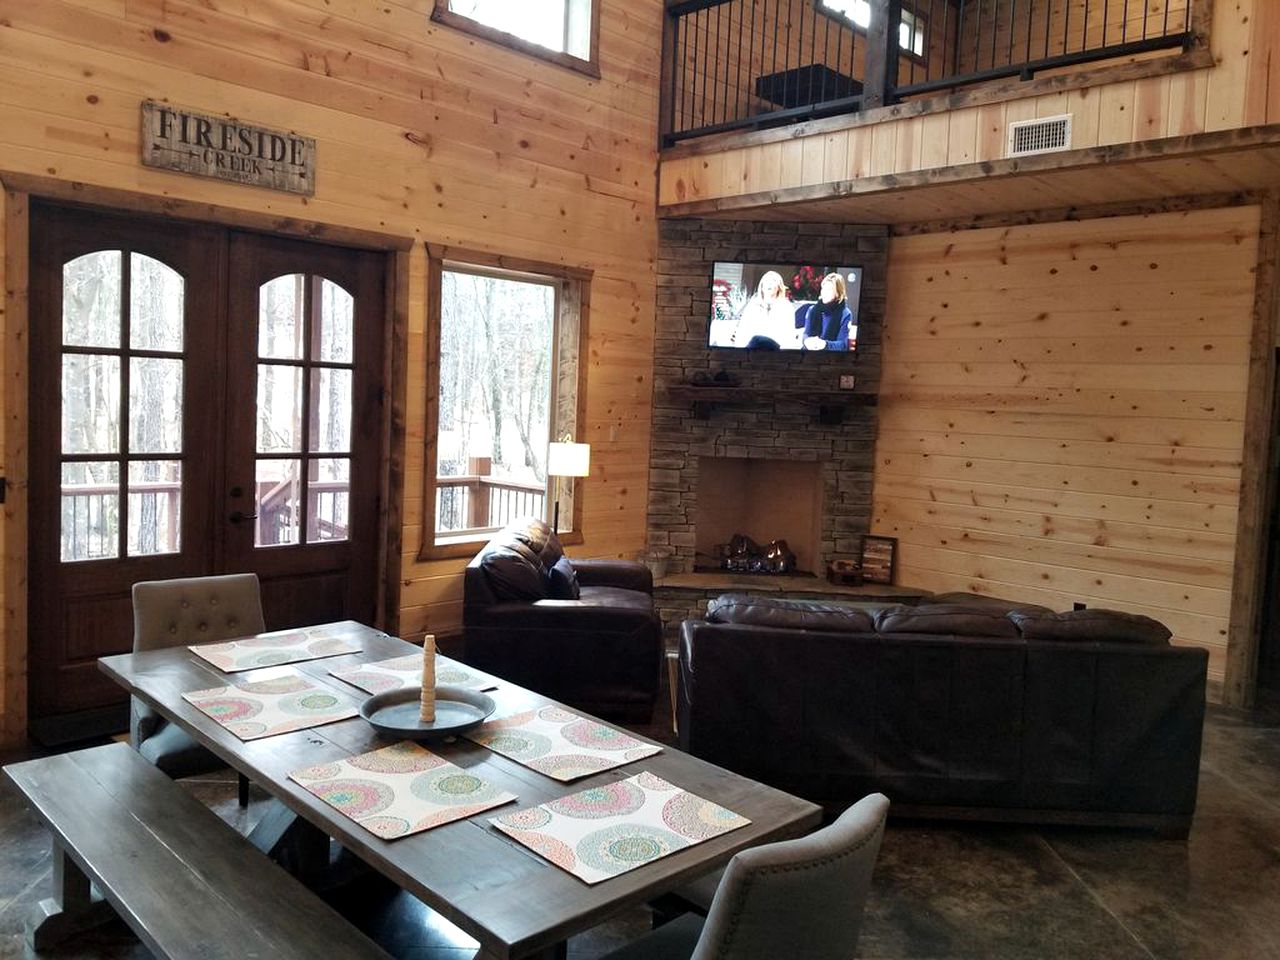
[{"label": "rough wooden frame around the dark double doors", "polygon": [[387,255],[387,316],[383,338],[383,383],[388,403],[381,425],[381,468],[378,507],[378,579],[374,626],[389,634],[399,632],[401,541],[404,511],[404,419],[408,371],[408,296],[412,237],[378,233],[335,224],[300,220],[253,210],[215,204],[175,200],[110,187],[33,177],[0,170],[0,248],[4,251],[4,311],[0,314],[0,339],[4,357],[4,417],[0,422],[3,475],[6,481],[4,549],[4,635],[0,637],[0,748],[18,746],[27,740],[27,658],[28,600],[27,556],[29,476],[27,351],[29,201],[31,198],[79,204],[108,211],[141,216],[168,216],[216,224],[279,237],[311,239],[348,247],[380,251]]}]

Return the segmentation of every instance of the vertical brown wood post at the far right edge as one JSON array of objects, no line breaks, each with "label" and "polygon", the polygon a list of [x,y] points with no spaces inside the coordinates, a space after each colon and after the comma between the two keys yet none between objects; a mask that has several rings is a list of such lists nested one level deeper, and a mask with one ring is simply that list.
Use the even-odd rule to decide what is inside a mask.
[{"label": "vertical brown wood post at the far right edge", "polygon": [[1257,691],[1263,577],[1267,571],[1267,520],[1274,509],[1276,343],[1280,332],[1280,191],[1262,204],[1257,285],[1249,342],[1249,388],[1244,413],[1244,458],[1235,532],[1235,575],[1226,635],[1222,703],[1251,708]]}]

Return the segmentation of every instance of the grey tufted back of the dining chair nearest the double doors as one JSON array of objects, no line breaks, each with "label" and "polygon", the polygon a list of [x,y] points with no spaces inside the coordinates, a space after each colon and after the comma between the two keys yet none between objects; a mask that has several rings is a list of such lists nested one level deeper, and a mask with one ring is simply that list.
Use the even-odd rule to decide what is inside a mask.
[{"label": "grey tufted back of the dining chair nearest the double doors", "polygon": [[261,634],[256,573],[145,580],[133,585],[133,652]]}]

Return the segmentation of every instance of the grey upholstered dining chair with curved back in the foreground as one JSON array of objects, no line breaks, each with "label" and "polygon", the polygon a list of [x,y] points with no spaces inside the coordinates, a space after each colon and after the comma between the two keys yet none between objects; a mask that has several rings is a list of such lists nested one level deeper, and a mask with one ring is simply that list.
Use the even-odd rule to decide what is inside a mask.
[{"label": "grey upholstered dining chair with curved back in the foreground", "polygon": [[872,794],[806,837],[741,851],[705,919],[685,914],[605,960],[851,960],[887,813]]}]

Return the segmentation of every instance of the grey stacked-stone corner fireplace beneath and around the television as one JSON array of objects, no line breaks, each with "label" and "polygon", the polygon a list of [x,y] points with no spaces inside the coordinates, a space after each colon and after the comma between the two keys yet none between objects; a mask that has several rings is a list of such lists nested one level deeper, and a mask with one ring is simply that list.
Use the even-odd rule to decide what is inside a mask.
[{"label": "grey stacked-stone corner fireplace beneath and around the television", "polygon": [[[671,573],[714,563],[735,532],[762,545],[785,538],[797,568],[819,577],[832,559],[858,557],[870,526],[887,247],[883,227],[660,224],[648,541]],[[708,348],[716,261],[863,266],[856,355]],[[694,375],[719,371],[736,385],[703,401]]]}]

